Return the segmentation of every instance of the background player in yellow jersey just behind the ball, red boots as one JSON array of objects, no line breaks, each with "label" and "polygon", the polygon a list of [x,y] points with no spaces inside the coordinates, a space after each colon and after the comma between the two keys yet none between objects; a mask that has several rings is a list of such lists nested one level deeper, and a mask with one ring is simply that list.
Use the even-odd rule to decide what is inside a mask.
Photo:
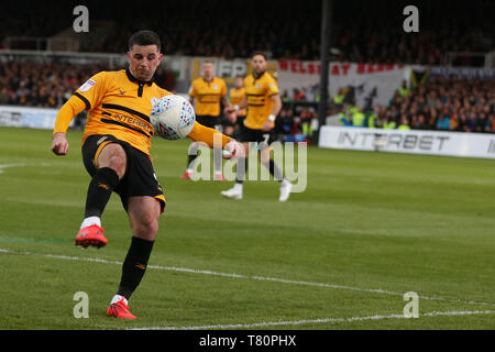
[{"label": "background player in yellow jersey just behind the ball, red boots", "polygon": [[[221,131],[220,102],[226,108],[230,108],[230,102],[227,98],[227,85],[223,78],[215,76],[213,62],[204,62],[201,69],[202,77],[193,80],[189,89],[190,102],[194,103],[196,100],[196,121],[208,128]],[[198,155],[198,147],[199,144],[195,142],[189,146],[187,169],[182,176],[184,179],[189,179],[193,176],[193,166]],[[215,148],[213,153],[216,154],[213,157],[213,179],[223,180],[221,151]]]}]

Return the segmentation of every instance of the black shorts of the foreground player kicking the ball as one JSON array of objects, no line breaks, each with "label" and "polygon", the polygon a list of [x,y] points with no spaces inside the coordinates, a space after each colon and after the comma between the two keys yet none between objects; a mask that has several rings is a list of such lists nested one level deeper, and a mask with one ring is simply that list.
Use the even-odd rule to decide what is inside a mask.
[{"label": "black shorts of the foreground player kicking the ball", "polygon": [[101,150],[108,143],[122,145],[128,157],[125,175],[113,189],[122,201],[125,211],[129,210],[129,198],[135,196],[150,196],[160,201],[162,212],[165,210],[165,196],[156,178],[153,164],[150,157],[131,146],[128,142],[118,140],[111,134],[94,134],[86,139],[82,144],[82,162],[86,170],[91,175],[96,174],[96,161]]}]

